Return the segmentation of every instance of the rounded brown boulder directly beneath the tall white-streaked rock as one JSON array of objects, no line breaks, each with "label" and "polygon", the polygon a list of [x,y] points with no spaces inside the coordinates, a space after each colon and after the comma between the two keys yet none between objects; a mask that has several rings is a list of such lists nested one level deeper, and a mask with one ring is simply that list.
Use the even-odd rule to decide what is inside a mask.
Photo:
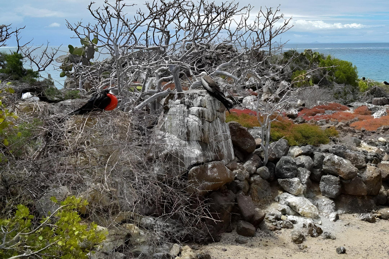
[{"label": "rounded brown boulder directly beneath the tall white-streaked rock", "polygon": [[204,195],[234,181],[234,174],[221,161],[212,161],[193,166],[188,172],[188,181],[193,185],[190,192]]}]

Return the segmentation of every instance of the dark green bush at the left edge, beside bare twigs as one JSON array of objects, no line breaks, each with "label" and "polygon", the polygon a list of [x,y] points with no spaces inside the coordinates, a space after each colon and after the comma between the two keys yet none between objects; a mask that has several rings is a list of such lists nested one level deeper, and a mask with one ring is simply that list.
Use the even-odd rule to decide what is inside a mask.
[{"label": "dark green bush at the left edge, beside bare twigs", "polygon": [[20,53],[12,54],[0,52],[0,73],[9,75],[12,80],[35,82],[39,74],[32,69],[23,68],[23,56]]}]

